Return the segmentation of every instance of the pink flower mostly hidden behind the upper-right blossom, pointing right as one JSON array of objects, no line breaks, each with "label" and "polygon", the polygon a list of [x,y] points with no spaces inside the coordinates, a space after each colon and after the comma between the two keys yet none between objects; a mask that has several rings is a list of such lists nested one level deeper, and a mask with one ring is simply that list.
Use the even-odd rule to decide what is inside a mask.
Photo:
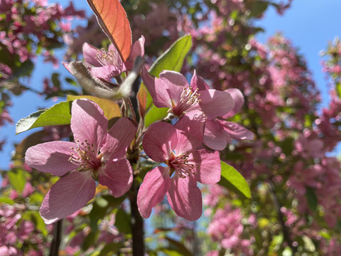
[{"label": "pink flower mostly hidden behind the upper-right blossom, pointing right", "polygon": [[[208,85],[206,82],[200,76],[197,76],[196,79],[197,81],[193,82],[194,87],[197,85],[200,93],[202,90],[207,90]],[[225,121],[225,119],[233,117],[242,108],[244,104],[242,92],[238,89],[227,89],[224,92],[231,95],[234,101],[234,107],[224,114],[213,113],[207,115],[205,125],[204,144],[215,150],[224,149],[231,138],[242,140],[254,139],[254,134],[242,125]]]}]

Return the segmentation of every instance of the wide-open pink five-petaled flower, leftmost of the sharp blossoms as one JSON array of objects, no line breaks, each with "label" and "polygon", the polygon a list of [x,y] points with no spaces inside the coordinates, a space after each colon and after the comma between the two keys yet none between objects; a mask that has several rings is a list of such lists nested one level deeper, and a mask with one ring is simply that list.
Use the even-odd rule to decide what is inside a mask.
[{"label": "wide-open pink five-petaled flower, leftmost of the sharp blossoms", "polygon": [[96,180],[107,186],[114,197],[124,195],[133,180],[124,156],[136,134],[136,125],[128,118],[120,118],[107,132],[103,110],[90,100],[75,100],[71,112],[75,142],[46,142],[26,151],[28,166],[61,176],[40,207],[47,224],[85,206],[94,197]]}]

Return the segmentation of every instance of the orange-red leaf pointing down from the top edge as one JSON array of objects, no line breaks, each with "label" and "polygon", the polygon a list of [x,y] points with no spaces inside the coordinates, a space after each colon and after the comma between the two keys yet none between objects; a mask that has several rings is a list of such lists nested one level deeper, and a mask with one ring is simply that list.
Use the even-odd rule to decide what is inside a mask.
[{"label": "orange-red leaf pointing down from the top edge", "polygon": [[116,46],[122,60],[129,58],[131,28],[119,0],[87,0],[87,3],[96,14],[99,26]]}]

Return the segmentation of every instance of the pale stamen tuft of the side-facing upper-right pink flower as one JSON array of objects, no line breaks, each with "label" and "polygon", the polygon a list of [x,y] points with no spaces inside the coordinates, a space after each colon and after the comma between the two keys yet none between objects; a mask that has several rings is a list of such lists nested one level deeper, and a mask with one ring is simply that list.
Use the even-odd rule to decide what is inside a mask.
[{"label": "pale stamen tuft of the side-facing upper-right pink flower", "polygon": [[172,100],[173,114],[180,116],[190,107],[199,103],[200,100],[198,97],[200,96],[200,93],[197,93],[198,90],[198,88],[193,90],[193,87],[190,85],[188,87],[183,87],[183,92],[181,92],[181,98],[178,104],[175,105],[175,102]]}]

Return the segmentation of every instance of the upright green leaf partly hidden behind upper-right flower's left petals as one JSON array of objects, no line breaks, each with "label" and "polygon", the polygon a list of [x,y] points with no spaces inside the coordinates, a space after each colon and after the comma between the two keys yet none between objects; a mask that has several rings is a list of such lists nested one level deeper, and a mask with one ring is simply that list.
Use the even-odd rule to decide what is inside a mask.
[{"label": "upright green leaf partly hidden behind upper-right flower's left petals", "polygon": [[[192,37],[190,35],[179,38],[155,60],[148,72],[157,78],[163,70],[180,72],[181,68],[183,68],[183,61],[191,47]],[[145,85],[142,84],[140,90],[145,89]],[[149,111],[146,114],[146,127],[167,116],[168,108],[155,109],[157,109],[157,107],[153,105],[153,99],[148,92],[146,97],[146,111]]]}]

